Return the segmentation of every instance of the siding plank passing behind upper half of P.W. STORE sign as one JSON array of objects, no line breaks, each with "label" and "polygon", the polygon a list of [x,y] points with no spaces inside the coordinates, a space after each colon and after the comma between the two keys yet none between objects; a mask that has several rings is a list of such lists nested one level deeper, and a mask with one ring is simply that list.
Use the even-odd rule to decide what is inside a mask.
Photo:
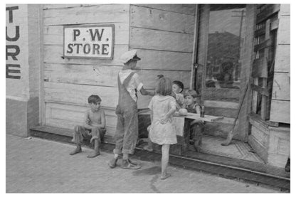
[{"label": "siding plank passing behind upper half of P.W. STORE sign", "polygon": [[[110,24],[110,23],[107,23]],[[115,45],[127,45],[129,43],[129,26],[127,23],[112,23],[115,25]],[[88,25],[83,24],[83,26]],[[104,23],[91,23],[90,26],[104,25]],[[45,26],[43,28],[43,43],[45,45],[63,45],[64,26]]]}]

